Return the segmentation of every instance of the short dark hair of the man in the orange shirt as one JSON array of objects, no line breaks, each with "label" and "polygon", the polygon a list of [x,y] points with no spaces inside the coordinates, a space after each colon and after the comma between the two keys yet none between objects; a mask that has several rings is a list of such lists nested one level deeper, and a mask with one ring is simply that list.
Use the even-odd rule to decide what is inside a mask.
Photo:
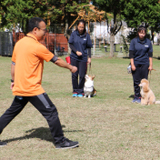
[{"label": "short dark hair of the man in the orange shirt", "polygon": [[33,31],[35,27],[39,28],[39,23],[42,21],[45,22],[42,18],[39,17],[31,18],[28,23],[28,32]]}]

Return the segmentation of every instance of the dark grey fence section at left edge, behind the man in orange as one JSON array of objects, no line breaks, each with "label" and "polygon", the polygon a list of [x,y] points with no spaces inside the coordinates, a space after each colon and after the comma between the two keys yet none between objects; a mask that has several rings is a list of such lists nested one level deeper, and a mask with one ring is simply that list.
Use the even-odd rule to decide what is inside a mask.
[{"label": "dark grey fence section at left edge, behind the man in orange", "polygon": [[0,32],[0,55],[12,56],[13,35],[12,32]]}]

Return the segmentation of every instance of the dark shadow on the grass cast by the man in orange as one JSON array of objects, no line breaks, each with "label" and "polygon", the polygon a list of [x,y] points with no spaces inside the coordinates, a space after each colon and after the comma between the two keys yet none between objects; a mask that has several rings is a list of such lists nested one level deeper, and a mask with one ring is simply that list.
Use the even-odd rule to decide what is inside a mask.
[{"label": "dark shadow on the grass cast by the man in orange", "polygon": [[[62,125],[62,128],[65,128],[65,125]],[[63,132],[84,132],[84,130],[63,130]],[[20,141],[24,139],[31,139],[31,138],[39,138],[41,140],[53,142],[53,138],[49,128],[40,127],[40,128],[33,128],[31,130],[26,131],[25,136],[16,137],[12,139],[4,140],[5,142],[13,142],[13,141]]]}]

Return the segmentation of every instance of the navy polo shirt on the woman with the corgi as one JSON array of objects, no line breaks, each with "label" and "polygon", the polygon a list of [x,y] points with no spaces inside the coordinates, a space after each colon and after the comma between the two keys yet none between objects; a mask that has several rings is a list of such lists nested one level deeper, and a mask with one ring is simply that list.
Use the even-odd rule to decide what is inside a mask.
[{"label": "navy polo shirt on the woman with the corgi", "polygon": [[80,35],[78,30],[75,30],[72,32],[68,43],[73,44],[75,49],[82,53],[82,56],[78,56],[72,50],[70,57],[78,61],[87,62],[87,48],[92,48],[92,41],[90,39],[90,35],[88,33]]}]

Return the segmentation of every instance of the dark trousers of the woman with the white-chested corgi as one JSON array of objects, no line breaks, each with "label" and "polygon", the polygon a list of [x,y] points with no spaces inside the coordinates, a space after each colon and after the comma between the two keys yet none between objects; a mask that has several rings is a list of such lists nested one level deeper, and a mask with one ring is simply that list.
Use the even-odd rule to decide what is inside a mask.
[{"label": "dark trousers of the woman with the white-chested corgi", "polygon": [[[73,92],[76,92],[77,94],[83,94],[83,87],[85,83],[85,74],[87,71],[87,63],[86,62],[80,62],[76,61],[71,58],[71,65],[77,67],[77,72],[72,73],[72,87]],[[79,82],[78,82],[78,75],[79,75]]]}]

